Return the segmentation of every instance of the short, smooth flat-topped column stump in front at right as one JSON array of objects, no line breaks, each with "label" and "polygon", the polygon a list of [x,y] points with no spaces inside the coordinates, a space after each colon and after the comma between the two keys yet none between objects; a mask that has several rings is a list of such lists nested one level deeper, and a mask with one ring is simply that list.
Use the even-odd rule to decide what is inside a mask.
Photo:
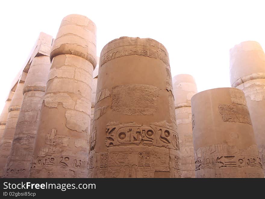
[{"label": "short, smooth flat-topped column stump in front at right", "polygon": [[210,89],[191,104],[195,177],[264,178],[244,93]]}]

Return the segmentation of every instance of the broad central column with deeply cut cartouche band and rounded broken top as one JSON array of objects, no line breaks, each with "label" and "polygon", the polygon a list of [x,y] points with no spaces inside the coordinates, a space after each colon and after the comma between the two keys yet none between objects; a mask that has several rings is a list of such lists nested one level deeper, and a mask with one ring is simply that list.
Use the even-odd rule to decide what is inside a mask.
[{"label": "broad central column with deeply cut cartouche band and rounded broken top", "polygon": [[181,177],[166,48],[121,37],[101,51],[89,177]]}]

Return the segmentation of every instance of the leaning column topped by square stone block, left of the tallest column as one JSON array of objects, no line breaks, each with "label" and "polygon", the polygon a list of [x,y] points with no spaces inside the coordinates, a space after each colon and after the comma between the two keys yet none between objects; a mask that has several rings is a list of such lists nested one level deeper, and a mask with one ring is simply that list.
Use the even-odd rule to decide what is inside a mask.
[{"label": "leaning column topped by square stone block, left of the tallest column", "polygon": [[50,54],[52,36],[41,33],[39,41],[36,47],[39,52],[33,53],[23,88],[24,98],[4,177],[25,178],[29,173],[40,109],[51,68],[50,57],[47,55]]}]

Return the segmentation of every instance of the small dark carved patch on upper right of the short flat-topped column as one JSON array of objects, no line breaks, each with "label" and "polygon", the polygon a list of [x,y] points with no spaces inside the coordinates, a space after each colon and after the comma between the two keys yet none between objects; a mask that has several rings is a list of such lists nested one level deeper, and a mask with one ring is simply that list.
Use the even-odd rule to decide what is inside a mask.
[{"label": "small dark carved patch on upper right of the short flat-topped column", "polygon": [[220,104],[218,108],[224,122],[242,122],[252,125],[248,107],[244,105]]}]

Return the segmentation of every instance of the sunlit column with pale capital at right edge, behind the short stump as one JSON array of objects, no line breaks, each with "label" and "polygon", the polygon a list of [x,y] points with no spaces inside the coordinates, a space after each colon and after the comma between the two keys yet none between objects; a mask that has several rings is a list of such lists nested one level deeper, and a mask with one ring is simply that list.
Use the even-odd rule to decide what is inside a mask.
[{"label": "sunlit column with pale capital at right edge, behind the short stump", "polygon": [[[245,93],[263,167],[265,166],[265,54],[245,41],[230,50],[230,82]],[[265,170],[264,170],[265,171]]]}]

